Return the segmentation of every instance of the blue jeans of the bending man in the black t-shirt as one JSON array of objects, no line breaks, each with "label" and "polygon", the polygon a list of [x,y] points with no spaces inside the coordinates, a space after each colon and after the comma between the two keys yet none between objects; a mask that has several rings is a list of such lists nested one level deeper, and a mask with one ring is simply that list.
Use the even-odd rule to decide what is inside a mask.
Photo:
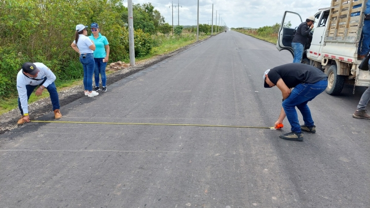
[{"label": "blue jeans of the bending man in the black t-shirt", "polygon": [[304,125],[307,127],[314,126],[311,111],[307,103],[312,101],[320,93],[324,92],[328,85],[328,79],[320,80],[316,83],[301,83],[298,84],[283,102],[283,108],[287,115],[288,121],[291,124],[292,132],[301,133],[300,125],[298,121],[298,115],[296,106],[303,116]]}]

